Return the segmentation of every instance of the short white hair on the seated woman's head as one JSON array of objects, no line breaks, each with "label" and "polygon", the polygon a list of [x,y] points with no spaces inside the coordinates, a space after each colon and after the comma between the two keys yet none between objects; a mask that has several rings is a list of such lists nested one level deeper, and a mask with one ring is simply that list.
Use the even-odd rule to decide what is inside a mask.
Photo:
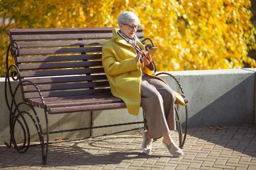
[{"label": "short white hair on the seated woman's head", "polygon": [[117,23],[119,24],[132,24],[132,22],[138,22],[139,24],[139,17],[131,11],[124,11],[122,12],[119,17],[117,18]]}]

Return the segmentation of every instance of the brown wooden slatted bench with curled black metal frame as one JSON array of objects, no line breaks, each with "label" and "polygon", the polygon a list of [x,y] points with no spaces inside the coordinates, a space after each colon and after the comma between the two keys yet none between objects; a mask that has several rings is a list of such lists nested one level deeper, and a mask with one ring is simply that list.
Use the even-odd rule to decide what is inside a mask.
[{"label": "brown wooden slatted bench with curled black metal frame", "polygon": [[[5,144],[9,148],[13,144],[18,152],[23,153],[30,145],[29,135],[26,138],[29,129],[25,120],[23,120],[25,123],[20,125],[25,136],[23,146],[18,146],[14,137],[14,126],[17,122],[22,124],[19,119],[23,119],[22,115],[26,112],[20,110],[20,104],[30,106],[33,112],[31,116],[34,115],[34,124],[38,129],[42,163],[46,163],[47,160],[49,134],[51,133],[125,125],[81,127],[55,132],[51,132],[48,127],[48,114],[126,108],[121,99],[112,96],[101,63],[102,44],[112,38],[112,28],[9,29],[8,34],[11,40],[8,51],[11,51],[11,55],[15,58],[15,65],[8,66],[7,62],[5,82],[11,133],[10,143]],[[154,46],[150,39],[144,39],[142,29],[139,29],[136,35],[147,49],[150,45]],[[7,61],[8,57],[7,53]],[[11,87],[11,78],[19,81],[17,87]],[[179,84],[177,79],[175,81]],[[15,100],[19,88],[23,97],[21,103]],[[182,91],[181,86],[180,89]],[[11,99],[8,98],[8,94],[11,95]],[[184,97],[183,91],[181,95]],[[187,103],[188,99],[184,97],[184,101]],[[43,108],[45,122],[39,122],[34,107]],[[187,108],[184,137],[177,111],[176,108],[180,147],[183,147],[187,129]],[[46,132],[43,132],[41,124],[46,124]],[[129,124],[145,124],[144,128],[146,128],[146,119]],[[83,139],[86,138],[89,137]]]}]

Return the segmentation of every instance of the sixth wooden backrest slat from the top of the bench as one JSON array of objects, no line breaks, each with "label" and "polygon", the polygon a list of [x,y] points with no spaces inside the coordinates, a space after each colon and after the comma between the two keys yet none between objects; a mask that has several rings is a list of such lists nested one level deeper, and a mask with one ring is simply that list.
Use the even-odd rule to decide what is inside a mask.
[{"label": "sixth wooden backrest slat from the top of the bench", "polygon": [[83,68],[89,66],[102,67],[101,61],[86,61],[86,62],[59,62],[59,63],[38,63],[38,64],[18,64],[21,71],[25,70],[41,70],[54,68]]}]

